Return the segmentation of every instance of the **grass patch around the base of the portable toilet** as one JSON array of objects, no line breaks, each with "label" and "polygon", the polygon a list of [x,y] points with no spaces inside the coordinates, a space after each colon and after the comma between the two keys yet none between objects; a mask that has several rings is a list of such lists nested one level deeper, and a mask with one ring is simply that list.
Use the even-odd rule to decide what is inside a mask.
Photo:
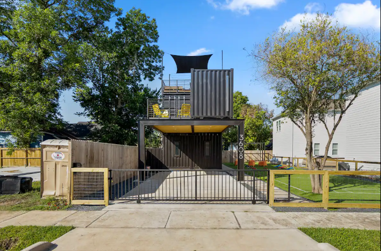
[{"label": "grass patch around the base of the portable toilet", "polygon": [[64,210],[69,207],[65,199],[40,198],[40,187],[41,182],[35,181],[31,191],[0,195],[0,210]]}]

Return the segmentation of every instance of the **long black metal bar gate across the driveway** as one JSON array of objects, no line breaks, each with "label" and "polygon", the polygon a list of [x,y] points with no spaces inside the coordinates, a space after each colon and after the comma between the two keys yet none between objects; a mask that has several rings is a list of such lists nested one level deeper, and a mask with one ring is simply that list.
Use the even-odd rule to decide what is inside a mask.
[{"label": "long black metal bar gate across the driveway", "polygon": [[269,170],[125,169],[109,176],[111,200],[269,202]]}]

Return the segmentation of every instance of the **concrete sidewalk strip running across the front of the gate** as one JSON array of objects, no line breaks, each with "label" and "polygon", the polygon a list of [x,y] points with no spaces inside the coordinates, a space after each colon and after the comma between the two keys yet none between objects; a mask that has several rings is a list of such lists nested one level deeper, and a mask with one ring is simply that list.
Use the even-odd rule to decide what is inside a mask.
[{"label": "concrete sidewalk strip running across the front of the gate", "polygon": [[7,225],[91,228],[296,229],[350,227],[380,230],[379,213],[274,212],[267,205],[114,204],[102,211],[0,211]]}]

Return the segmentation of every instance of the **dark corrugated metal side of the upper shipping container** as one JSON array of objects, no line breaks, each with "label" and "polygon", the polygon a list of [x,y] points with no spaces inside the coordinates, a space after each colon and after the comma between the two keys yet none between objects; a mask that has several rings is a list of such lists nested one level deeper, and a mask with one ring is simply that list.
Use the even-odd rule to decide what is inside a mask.
[{"label": "dark corrugated metal side of the upper shipping container", "polygon": [[191,116],[233,118],[233,69],[192,69],[190,74]]}]

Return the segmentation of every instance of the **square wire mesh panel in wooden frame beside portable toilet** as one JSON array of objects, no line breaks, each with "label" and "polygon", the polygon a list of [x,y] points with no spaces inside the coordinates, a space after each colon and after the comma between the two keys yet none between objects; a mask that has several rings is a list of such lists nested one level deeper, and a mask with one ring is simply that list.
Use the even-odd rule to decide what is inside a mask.
[{"label": "square wire mesh panel in wooden frame beside portable toilet", "polygon": [[108,205],[108,168],[72,168],[72,204]]}]

